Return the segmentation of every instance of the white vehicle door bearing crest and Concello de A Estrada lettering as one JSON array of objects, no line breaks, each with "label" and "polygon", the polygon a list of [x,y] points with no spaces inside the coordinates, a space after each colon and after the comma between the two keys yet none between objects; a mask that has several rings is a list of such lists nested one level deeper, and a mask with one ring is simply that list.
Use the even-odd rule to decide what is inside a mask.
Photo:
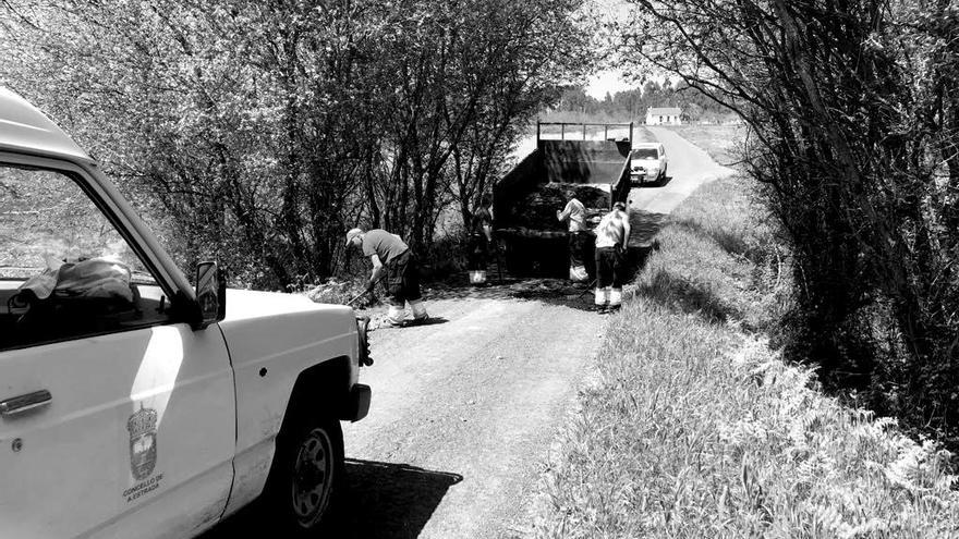
[{"label": "white vehicle door bearing crest and Concello de A Estrada lettering", "polygon": [[0,155],[0,536],[189,536],[232,481],[226,344],[82,173]]}]

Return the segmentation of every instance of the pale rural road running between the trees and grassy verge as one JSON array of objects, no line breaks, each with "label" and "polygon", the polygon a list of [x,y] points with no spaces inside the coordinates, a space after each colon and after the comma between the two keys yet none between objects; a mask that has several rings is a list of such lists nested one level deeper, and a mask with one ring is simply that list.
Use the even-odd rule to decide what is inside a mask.
[{"label": "pale rural road running between the trees and grassy verge", "polygon": [[[653,131],[671,179],[633,189],[631,204],[661,216],[724,171],[673,133]],[[605,319],[587,310],[591,294],[547,281],[429,297],[437,323],[371,334],[376,363],[361,380],[373,405],[344,426],[339,537],[522,537],[527,494],[588,376]],[[246,535],[250,518],[207,539]]]}]

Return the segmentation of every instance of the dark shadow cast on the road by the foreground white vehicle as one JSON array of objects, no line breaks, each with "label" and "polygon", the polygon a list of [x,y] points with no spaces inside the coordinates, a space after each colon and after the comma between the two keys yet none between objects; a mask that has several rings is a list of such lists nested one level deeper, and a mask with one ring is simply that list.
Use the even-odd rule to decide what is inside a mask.
[{"label": "dark shadow cast on the road by the foreground white vehicle", "polygon": [[[321,537],[327,539],[404,539],[420,536],[459,474],[408,464],[347,460],[345,488]],[[201,539],[280,537],[259,509],[236,513]],[[319,536],[317,536],[319,537]]]}]

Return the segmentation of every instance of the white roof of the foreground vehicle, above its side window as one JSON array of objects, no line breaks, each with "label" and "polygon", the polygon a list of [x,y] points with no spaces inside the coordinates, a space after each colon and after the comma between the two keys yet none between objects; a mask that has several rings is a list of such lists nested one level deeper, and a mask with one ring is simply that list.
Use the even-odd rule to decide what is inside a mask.
[{"label": "white roof of the foreground vehicle, above its side window", "polygon": [[39,109],[0,86],[0,150],[3,149],[92,160]]}]

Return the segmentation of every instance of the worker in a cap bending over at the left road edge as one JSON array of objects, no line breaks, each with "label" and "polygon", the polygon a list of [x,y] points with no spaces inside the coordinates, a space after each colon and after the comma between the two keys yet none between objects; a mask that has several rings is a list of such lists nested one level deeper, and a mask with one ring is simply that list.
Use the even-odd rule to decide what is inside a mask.
[{"label": "worker in a cap bending over at the left road edge", "polygon": [[373,273],[366,281],[368,292],[373,291],[386,268],[387,290],[390,295],[387,321],[390,326],[403,324],[406,319],[408,302],[410,310],[413,311],[413,322],[426,321],[428,316],[420,294],[416,257],[400,236],[380,229],[373,229],[369,232],[352,229],[347,232],[347,247],[351,246],[362,248],[363,256],[368,256],[373,262]]}]

